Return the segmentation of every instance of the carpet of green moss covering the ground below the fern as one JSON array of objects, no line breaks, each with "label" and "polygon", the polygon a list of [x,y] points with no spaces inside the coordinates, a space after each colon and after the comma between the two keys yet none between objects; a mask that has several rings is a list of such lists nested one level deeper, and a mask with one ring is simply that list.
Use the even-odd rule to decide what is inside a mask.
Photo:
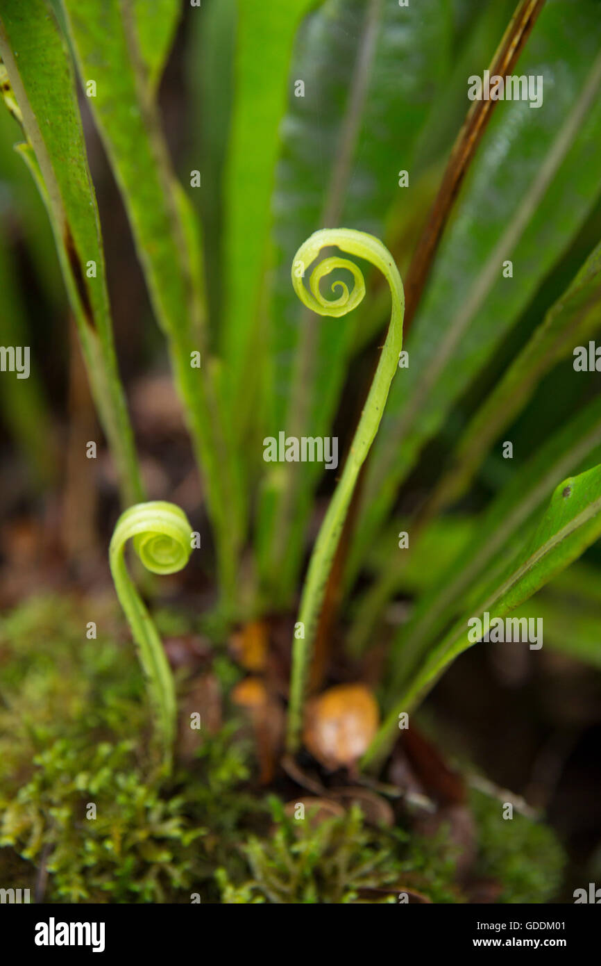
[{"label": "carpet of green moss covering the ground below the fern", "polygon": [[[86,638],[95,620],[97,639]],[[224,695],[239,677],[225,655]],[[357,809],[316,824],[287,817],[250,783],[252,743],[231,718],[168,784],[147,753],[150,709],[112,598],[43,597],[0,622],[0,876],[51,902],[461,902],[446,829],[373,828]],[[93,809],[92,806],[95,808]],[[504,902],[542,902],[559,883],[548,829],[474,792],[477,874]],[[96,817],[94,817],[96,815]],[[510,830],[509,827],[510,826]],[[20,858],[19,858],[20,857]],[[29,869],[29,871],[28,871]]]}]

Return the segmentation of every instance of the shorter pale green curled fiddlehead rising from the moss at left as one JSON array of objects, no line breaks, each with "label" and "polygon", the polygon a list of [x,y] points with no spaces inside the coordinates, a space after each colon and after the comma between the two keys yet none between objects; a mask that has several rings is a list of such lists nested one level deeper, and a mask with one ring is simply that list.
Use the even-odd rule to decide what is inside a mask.
[{"label": "shorter pale green curled fiddlehead rising from the moss at left", "polygon": [[168,771],[177,724],[174,679],[150,613],[129,577],[124,552],[127,541],[133,539],[136,554],[151,573],[175,574],[185,567],[190,557],[191,532],[185,513],[175,503],[162,500],[137,503],[117,521],[109,548],[115,589],[138,645]]}]

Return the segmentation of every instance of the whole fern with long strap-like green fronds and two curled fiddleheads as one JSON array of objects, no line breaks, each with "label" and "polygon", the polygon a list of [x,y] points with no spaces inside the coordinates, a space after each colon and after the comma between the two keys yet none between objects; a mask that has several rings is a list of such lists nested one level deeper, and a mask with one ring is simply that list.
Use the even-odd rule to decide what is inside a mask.
[{"label": "whole fern with long strap-like green fronds and two curled fiddleheads", "polygon": [[[207,626],[223,640],[236,623],[295,615],[288,753],[334,621],[358,676],[385,640],[383,724],[359,765],[377,770],[399,716],[475,642],[471,619],[525,613],[539,591],[533,613],[553,613],[561,573],[588,548],[578,591],[598,613],[594,349],[591,366],[574,363],[601,322],[598,3],[190,8],[189,165],[174,162],[159,108],[181,13],[178,0],[0,0],[7,123],[49,216],[119,478],[115,586],[169,769],[176,690],[123,554],[133,537],[151,570],[175,572],[193,533],[174,503],[144,502],[77,77],[200,470]],[[484,70],[541,78],[541,103],[470,105],[467,78]],[[300,440],[339,433],[336,473],[298,458]],[[391,630],[398,597],[411,609]],[[548,639],[576,649],[571,632]],[[579,656],[598,666],[587,640]]]}]

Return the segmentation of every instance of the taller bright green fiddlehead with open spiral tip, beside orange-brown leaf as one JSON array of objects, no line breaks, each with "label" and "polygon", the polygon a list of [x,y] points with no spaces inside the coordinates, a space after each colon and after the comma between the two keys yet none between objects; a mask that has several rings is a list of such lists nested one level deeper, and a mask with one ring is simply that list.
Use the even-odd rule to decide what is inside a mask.
[{"label": "taller bright green fiddlehead with open spiral tip, beside orange-brown leaf", "polygon": [[[368,400],[353,437],[341,480],[319,530],[303,588],[298,620],[304,625],[305,637],[304,639],[295,639],[292,646],[292,674],[287,729],[288,750],[292,752],[299,745],[307,675],[326,583],[341,537],[341,529],[348,505],[355,489],[357,476],[378,431],[390,386],[396,373],[398,354],[402,347],[402,321],[405,308],[402,281],[391,253],[381,241],[373,238],[372,235],[350,228],[326,228],[314,232],[314,235],[298,249],[292,263],[292,285],[298,298],[308,308],[320,315],[339,317],[356,308],[365,295],[365,282],[359,267],[354,262],[343,259],[338,255],[324,259],[315,267],[309,282],[311,292],[307,291],[303,284],[305,270],[314,262],[320,250],[328,245],[338,245],[341,250],[355,255],[357,258],[363,258],[370,265],[379,269],[390,286],[393,307],[386,342],[369,389]],[[349,292],[344,282],[334,282],[332,291],[338,289],[341,294],[339,298],[328,301],[323,298],[319,291],[319,282],[335,269],[350,271],[354,286]]]}]

